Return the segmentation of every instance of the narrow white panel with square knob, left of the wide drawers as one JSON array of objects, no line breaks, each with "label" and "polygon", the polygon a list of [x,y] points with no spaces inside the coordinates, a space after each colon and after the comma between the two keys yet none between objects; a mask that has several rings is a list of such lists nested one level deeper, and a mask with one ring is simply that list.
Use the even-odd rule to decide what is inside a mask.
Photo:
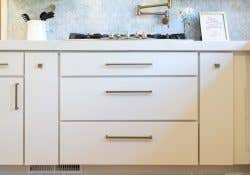
[{"label": "narrow white panel with square knob, left of the wide drawers", "polygon": [[25,54],[25,164],[58,163],[58,54]]}]

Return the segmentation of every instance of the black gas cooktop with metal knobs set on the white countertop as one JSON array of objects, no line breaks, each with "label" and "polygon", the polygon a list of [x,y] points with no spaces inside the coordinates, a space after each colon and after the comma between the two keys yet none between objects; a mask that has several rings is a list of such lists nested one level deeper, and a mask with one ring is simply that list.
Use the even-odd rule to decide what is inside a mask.
[{"label": "black gas cooktop with metal knobs set on the white countertop", "polygon": [[138,40],[138,39],[186,39],[185,34],[80,34],[71,33],[69,39]]}]

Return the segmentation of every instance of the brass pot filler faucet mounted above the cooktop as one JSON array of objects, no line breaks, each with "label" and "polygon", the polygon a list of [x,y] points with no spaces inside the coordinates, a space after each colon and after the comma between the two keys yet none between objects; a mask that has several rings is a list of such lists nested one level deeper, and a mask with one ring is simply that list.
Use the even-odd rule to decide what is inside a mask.
[{"label": "brass pot filler faucet mounted above the cooktop", "polygon": [[152,5],[138,5],[137,6],[137,15],[160,15],[164,16],[162,19],[162,24],[169,25],[169,10],[165,12],[143,12],[142,9],[154,8],[154,7],[167,7],[170,9],[172,7],[172,0],[168,0],[167,3],[162,4],[152,4]]}]

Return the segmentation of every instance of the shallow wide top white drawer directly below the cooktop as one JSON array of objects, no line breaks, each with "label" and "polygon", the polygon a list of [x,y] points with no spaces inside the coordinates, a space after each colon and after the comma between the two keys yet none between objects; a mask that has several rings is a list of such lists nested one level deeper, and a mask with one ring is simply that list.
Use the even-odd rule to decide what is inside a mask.
[{"label": "shallow wide top white drawer directly below the cooktop", "polygon": [[62,76],[197,75],[197,53],[62,53]]}]

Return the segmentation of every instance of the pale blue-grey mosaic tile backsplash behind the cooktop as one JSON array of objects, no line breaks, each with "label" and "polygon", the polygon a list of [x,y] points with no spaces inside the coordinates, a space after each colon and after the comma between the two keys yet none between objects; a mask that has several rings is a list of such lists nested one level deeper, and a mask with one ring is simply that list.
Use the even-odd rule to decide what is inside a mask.
[{"label": "pale blue-grey mosaic tile backsplash behind the cooktop", "polygon": [[[250,0],[173,0],[170,26],[161,17],[136,16],[136,5],[162,3],[164,0],[9,0],[8,39],[25,39],[26,23],[22,13],[38,19],[53,3],[56,17],[47,21],[50,40],[67,39],[70,32],[80,33],[183,33],[200,39],[198,12],[224,11],[231,40],[250,40]],[[155,9],[154,9],[155,10]],[[164,10],[163,9],[158,9]]]}]

